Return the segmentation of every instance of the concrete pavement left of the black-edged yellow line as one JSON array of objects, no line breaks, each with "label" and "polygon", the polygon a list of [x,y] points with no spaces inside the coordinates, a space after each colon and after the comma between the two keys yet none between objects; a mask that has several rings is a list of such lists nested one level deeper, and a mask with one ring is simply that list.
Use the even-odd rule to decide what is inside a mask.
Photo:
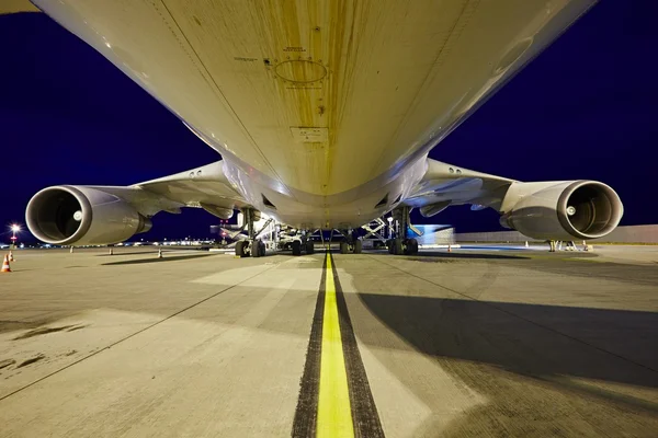
[{"label": "concrete pavement left of the black-edged yellow line", "polygon": [[1,370],[0,435],[290,435],[321,255],[217,255],[148,270],[76,257],[86,267],[75,275],[47,268],[27,277],[25,262],[25,276],[2,278],[0,302],[20,304],[3,320],[56,311],[41,332],[0,338],[2,359],[16,362]]}]

